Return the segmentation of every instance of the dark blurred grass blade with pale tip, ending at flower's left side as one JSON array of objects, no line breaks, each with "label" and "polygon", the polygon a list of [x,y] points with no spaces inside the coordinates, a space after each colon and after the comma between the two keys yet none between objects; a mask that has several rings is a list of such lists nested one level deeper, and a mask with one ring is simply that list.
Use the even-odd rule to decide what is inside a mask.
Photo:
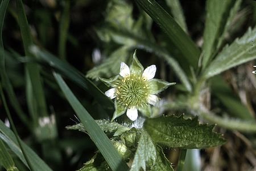
[{"label": "dark blurred grass blade with pale tip, ending at flower's left side", "polygon": [[40,50],[36,46],[31,47],[31,53],[39,58],[42,64],[51,66],[53,69],[59,71],[68,79],[75,82],[78,86],[85,89],[90,95],[95,97],[99,104],[105,109],[109,109],[113,112],[113,101],[110,100],[105,94],[98,89],[89,79],[85,78],[81,72],[77,71],[73,66],[69,65],[67,62],[61,61],[59,58],[48,53],[46,50]]}]

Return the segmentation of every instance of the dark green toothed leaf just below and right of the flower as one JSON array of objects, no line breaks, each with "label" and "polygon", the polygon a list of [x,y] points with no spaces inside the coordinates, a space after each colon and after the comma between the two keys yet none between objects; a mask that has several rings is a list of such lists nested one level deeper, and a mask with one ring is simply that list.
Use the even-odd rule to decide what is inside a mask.
[{"label": "dark green toothed leaf just below and right of the flower", "polygon": [[214,126],[200,125],[197,117],[165,116],[147,119],[144,129],[154,142],[171,148],[207,148],[225,143],[220,134],[213,132]]}]

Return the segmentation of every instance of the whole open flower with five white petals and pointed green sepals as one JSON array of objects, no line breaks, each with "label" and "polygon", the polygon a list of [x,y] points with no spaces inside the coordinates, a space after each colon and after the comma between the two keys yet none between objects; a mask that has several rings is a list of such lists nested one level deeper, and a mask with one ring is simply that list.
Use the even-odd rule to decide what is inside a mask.
[{"label": "whole open flower with five white petals and pointed green sepals", "polygon": [[158,94],[175,83],[154,79],[156,66],[151,65],[145,70],[133,54],[131,66],[121,62],[119,75],[114,78],[100,78],[107,86],[112,87],[105,92],[110,99],[115,99],[115,112],[112,121],[126,111],[131,121],[138,118],[138,110],[144,116],[151,117],[150,105],[158,105]]}]

